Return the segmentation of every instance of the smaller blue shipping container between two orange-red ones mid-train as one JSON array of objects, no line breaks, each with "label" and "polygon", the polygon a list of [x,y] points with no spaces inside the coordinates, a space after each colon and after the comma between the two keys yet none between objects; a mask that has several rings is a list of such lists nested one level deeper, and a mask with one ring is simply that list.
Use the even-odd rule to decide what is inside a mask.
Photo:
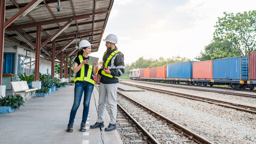
[{"label": "smaller blue shipping container between two orange-red ones mid-train", "polygon": [[166,77],[192,79],[193,62],[180,62],[166,65]]}]

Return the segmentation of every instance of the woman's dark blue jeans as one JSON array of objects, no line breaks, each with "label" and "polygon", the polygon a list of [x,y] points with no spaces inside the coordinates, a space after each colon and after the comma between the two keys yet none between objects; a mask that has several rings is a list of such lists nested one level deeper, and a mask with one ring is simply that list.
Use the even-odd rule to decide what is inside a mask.
[{"label": "woman's dark blue jeans", "polygon": [[76,112],[78,111],[78,107],[81,103],[83,92],[84,92],[84,110],[83,110],[82,122],[87,121],[90,100],[91,100],[91,93],[93,92],[93,88],[94,88],[94,85],[89,82],[77,82],[75,84],[75,98],[74,98],[73,107],[70,112],[69,123],[74,123]]}]

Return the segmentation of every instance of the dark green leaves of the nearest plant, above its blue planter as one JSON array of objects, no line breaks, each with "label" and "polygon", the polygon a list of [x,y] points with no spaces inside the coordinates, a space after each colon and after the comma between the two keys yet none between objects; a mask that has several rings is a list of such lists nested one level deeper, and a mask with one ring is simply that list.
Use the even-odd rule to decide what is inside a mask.
[{"label": "dark green leaves of the nearest plant, above its blue planter", "polygon": [[23,98],[19,94],[7,95],[0,99],[0,106],[10,106],[13,109],[17,109],[20,106],[24,106]]}]

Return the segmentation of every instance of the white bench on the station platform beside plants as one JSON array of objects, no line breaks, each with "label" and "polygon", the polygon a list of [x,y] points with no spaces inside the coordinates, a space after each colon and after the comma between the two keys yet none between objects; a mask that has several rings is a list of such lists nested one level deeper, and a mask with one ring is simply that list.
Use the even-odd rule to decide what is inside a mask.
[{"label": "white bench on the station platform beside plants", "polygon": [[23,100],[31,100],[32,97],[35,98],[35,91],[37,88],[29,89],[26,81],[11,82],[11,86],[13,87],[13,92],[15,94],[20,94],[23,97]]}]

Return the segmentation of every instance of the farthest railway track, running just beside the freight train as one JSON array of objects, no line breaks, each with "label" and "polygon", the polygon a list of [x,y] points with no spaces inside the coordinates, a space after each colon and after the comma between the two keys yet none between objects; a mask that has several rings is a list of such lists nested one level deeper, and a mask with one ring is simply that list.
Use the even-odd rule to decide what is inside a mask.
[{"label": "farthest railway track, running just beside the freight train", "polygon": [[[138,83],[147,83],[147,84],[151,84],[151,85],[160,85],[160,86],[169,86],[172,88],[182,88],[182,89],[192,89],[192,90],[197,90],[197,91],[207,91],[207,92],[217,92],[219,94],[229,94],[229,95],[236,95],[236,96],[240,96],[240,97],[252,97],[252,98],[256,98],[256,95],[251,95],[251,94],[239,94],[239,93],[234,93],[234,92],[226,92],[226,91],[217,91],[217,90],[213,90],[213,89],[203,89],[203,88],[192,88],[192,87],[184,87],[184,86],[175,86],[175,85],[166,85],[165,83],[150,83],[150,82],[141,82],[141,81],[134,81],[134,80],[124,80],[127,82],[138,82]],[[231,89],[229,89],[231,90]]]}]

